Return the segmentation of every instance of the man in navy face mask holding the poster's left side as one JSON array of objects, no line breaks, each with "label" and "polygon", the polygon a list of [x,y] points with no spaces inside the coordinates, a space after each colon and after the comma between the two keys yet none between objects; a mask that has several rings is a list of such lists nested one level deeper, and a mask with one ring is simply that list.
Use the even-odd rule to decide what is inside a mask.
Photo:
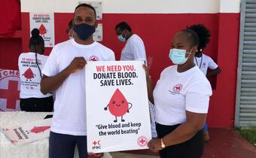
[{"label": "man in navy face mask holding the poster's left side", "polygon": [[[87,4],[75,8],[74,39],[56,44],[44,65],[41,92],[56,91],[50,127],[49,158],[70,158],[78,145],[80,158],[87,158],[85,74],[87,61],[114,60],[114,52],[93,41],[96,11]],[[101,157],[102,153],[89,153]]]}]

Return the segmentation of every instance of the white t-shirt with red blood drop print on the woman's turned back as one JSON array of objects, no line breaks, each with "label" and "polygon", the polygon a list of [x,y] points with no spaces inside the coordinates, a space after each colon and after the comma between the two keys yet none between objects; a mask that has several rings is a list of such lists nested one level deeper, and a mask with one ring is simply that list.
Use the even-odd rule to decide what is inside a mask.
[{"label": "white t-shirt with red blood drop print on the woman's turned back", "polygon": [[[39,68],[42,70],[48,56],[37,55]],[[35,62],[35,53],[21,53],[18,60],[20,71],[20,98],[45,98],[52,96],[44,95],[40,91],[41,75]]]}]

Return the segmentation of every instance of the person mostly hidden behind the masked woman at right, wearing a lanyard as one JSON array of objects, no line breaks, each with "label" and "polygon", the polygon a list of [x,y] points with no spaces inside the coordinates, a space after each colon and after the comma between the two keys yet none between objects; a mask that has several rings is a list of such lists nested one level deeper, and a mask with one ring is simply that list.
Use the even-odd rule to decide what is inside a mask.
[{"label": "person mostly hidden behind the masked woman at right, wearing a lanyard", "polygon": [[[203,74],[206,75],[206,77],[213,77],[216,76],[221,72],[221,68],[214,62],[214,60],[203,53],[203,50],[206,48],[207,44],[209,44],[211,33],[209,32],[209,29],[206,28],[206,26],[202,24],[192,25],[187,27],[187,29],[192,29],[194,32],[197,32],[197,35],[199,36],[199,46],[198,50],[195,53],[194,62],[197,64],[197,66],[200,68],[200,70],[203,72]],[[211,69],[212,71],[207,71]],[[205,123],[203,126],[203,133],[205,141],[209,141],[209,132],[208,132],[208,125]]]}]

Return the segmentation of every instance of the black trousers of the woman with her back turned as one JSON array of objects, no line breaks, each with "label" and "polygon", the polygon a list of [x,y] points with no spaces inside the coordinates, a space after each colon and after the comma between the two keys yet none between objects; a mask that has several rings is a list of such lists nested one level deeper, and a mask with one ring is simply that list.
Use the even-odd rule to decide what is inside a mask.
[{"label": "black trousers of the woman with her back turned", "polygon": [[20,99],[20,109],[28,112],[51,112],[53,111],[53,96]]}]

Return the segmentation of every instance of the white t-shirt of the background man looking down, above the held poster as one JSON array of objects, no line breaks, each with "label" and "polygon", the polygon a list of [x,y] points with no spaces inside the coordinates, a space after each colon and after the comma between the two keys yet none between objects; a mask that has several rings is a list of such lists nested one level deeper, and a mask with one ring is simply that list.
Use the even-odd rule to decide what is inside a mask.
[{"label": "white t-shirt of the background man looking down, above the held poster", "polygon": [[123,47],[120,60],[147,61],[145,46],[139,35],[133,34]]}]

